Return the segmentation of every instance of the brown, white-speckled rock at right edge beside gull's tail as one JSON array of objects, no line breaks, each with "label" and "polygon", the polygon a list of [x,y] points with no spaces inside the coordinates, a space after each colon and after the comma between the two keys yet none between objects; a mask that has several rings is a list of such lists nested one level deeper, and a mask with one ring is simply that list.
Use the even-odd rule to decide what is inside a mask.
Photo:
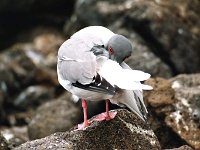
[{"label": "brown, white-speckled rock at right edge beside gull's tail", "polygon": [[[163,137],[168,136],[164,141],[170,137],[170,146],[189,144],[195,149],[200,149],[200,74],[182,74],[170,80],[155,78],[145,83],[154,88],[145,92],[145,99],[152,107],[149,112],[153,117],[150,117],[149,123],[155,129],[160,142],[163,141]],[[168,132],[169,128],[171,132]],[[165,133],[164,136],[159,136],[158,129]],[[163,148],[173,147],[166,145]]]}]

